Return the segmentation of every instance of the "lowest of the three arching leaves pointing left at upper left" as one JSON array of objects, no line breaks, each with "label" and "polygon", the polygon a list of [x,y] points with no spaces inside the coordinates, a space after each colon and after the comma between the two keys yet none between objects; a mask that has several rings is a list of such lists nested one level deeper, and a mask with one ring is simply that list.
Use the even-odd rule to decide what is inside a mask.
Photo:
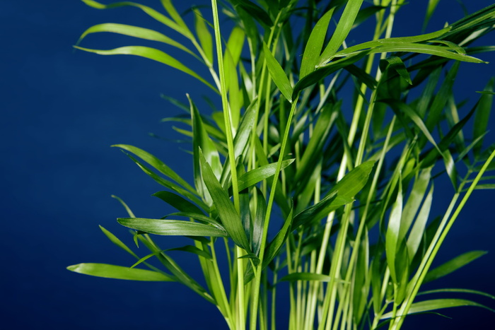
[{"label": "lowest of the three arching leaves pointing left at upper left", "polygon": [[115,49],[89,49],[78,46],[74,46],[74,48],[100,55],[134,55],[144,57],[146,59],[153,59],[153,61],[158,61],[165,65],[171,66],[174,69],[180,70],[184,73],[189,74],[190,76],[193,76],[194,78],[197,78],[199,81],[218,93],[218,90],[216,90],[214,86],[211,86],[208,81],[204,80],[204,78],[199,76],[196,72],[192,71],[180,61],[177,61],[177,59],[171,57],[169,54],[166,54],[165,52],[162,52],[161,50],[158,50],[156,48],[144,46],[125,46]]}]

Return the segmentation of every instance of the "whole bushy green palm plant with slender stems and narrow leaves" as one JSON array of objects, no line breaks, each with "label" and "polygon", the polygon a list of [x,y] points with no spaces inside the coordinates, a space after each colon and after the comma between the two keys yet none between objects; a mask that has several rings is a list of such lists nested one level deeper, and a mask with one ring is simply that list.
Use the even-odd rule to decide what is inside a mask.
[{"label": "whole bushy green palm plant with slender stems and narrow leaves", "polygon": [[[163,30],[103,23],[88,28],[77,49],[172,66],[208,86],[221,111],[200,110],[189,96],[188,105],[168,98],[187,111],[167,120],[187,127],[177,130],[192,141],[191,177],[141,148],[115,146],[165,187],[154,196],[177,212],[139,218],[119,199],[129,216],[118,222],[149,253],[137,254],[101,228],[136,263],[69,270],[182,283],[216,305],[230,329],[275,329],[279,315],[289,315],[289,329],[400,329],[409,314],[488,308],[450,295],[433,299],[421,285],[484,254],[466,252],[431,268],[472,191],[494,187],[487,172],[495,169],[495,144],[484,141],[494,79],[470,109],[455,99],[453,84],[462,62],[487,65],[479,58],[494,47],[471,45],[492,33],[495,5],[442,30],[391,37],[397,11],[414,4],[212,0],[183,15],[171,0],[161,0],[159,10],[129,1],[83,2],[132,6]],[[425,26],[437,3],[429,1]],[[221,25],[220,17],[231,23]],[[370,40],[346,42],[370,22]],[[102,32],[134,37],[133,44],[79,46]],[[134,45],[139,39],[156,47]],[[172,47],[211,76],[170,56]],[[441,176],[450,179],[452,194],[438,217],[430,208]],[[156,235],[184,236],[190,244],[163,249]],[[180,253],[197,255],[204,278],[180,267]],[[289,313],[277,308],[279,290],[289,290]],[[493,297],[436,290],[452,291]]]}]

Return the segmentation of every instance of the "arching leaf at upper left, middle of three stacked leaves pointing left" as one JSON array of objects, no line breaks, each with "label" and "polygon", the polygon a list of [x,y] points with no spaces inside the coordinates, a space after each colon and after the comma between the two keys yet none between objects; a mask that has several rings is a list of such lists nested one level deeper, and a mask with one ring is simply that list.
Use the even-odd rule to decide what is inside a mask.
[{"label": "arching leaf at upper left, middle of three stacked leaves pointing left", "polygon": [[163,42],[167,45],[181,49],[184,52],[187,52],[194,57],[197,57],[197,55],[194,54],[190,49],[188,49],[184,45],[180,44],[179,42],[176,42],[175,40],[170,39],[170,37],[167,37],[166,35],[163,35],[162,33],[159,33],[155,30],[140,28],[139,26],[125,25],[125,24],[118,24],[118,23],[103,23],[103,24],[97,24],[97,25],[91,26],[91,28],[88,28],[86,31],[83,32],[81,37],[79,37],[79,40],[76,43],[76,45],[79,45],[81,40],[83,40],[84,37],[86,37],[86,35],[89,35],[90,33],[100,33],[100,32],[119,33],[121,35],[128,35],[129,37],[136,37],[136,38],[141,38],[141,39],[146,39],[146,40]]}]

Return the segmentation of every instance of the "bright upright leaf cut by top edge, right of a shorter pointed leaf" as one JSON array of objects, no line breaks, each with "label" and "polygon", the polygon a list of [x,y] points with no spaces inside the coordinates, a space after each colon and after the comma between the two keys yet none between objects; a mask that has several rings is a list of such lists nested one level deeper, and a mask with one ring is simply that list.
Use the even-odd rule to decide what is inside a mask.
[{"label": "bright upright leaf cut by top edge, right of a shorter pointed leaf", "polygon": [[359,13],[359,9],[361,9],[361,4],[363,4],[363,0],[347,1],[344,12],[342,12],[339,23],[337,23],[337,28],[335,28],[330,42],[328,42],[327,47],[325,47],[325,50],[323,50],[323,53],[321,54],[320,64],[325,64],[327,61],[330,61],[342,45],[342,42],[344,42],[347,38],[347,35],[349,35],[349,32],[351,31],[352,25],[354,25],[356,16]]}]

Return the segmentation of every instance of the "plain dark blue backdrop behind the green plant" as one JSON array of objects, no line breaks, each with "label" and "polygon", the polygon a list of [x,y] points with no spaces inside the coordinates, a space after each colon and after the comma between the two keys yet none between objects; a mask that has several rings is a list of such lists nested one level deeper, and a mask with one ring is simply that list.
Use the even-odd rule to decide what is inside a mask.
[{"label": "plain dark blue backdrop behind the green plant", "polygon": [[[182,10],[193,1],[176,2],[182,2]],[[419,33],[427,1],[412,2],[418,6],[399,13],[395,36]],[[470,12],[492,3],[466,2]],[[143,3],[160,8],[160,1]],[[160,28],[135,8],[98,11],[67,0],[3,0],[1,4],[0,314],[2,324],[8,325],[4,329],[225,329],[215,307],[175,283],[115,281],[65,269],[80,262],[134,262],[98,229],[103,225],[132,245],[127,230],[115,221],[125,212],[110,195],[121,196],[141,217],[155,218],[171,210],[150,196],[161,187],[109,146],[129,143],[144,148],[190,179],[189,155],[175,143],[150,138],[148,133],[179,137],[170,124],[159,122],[180,112],[161,100],[161,93],[183,102],[185,93],[190,93],[204,108],[201,98],[209,91],[194,78],[153,61],[73,51],[71,46],[83,30],[97,23]],[[441,1],[440,6],[429,30],[462,16],[457,1]],[[485,40],[489,38],[493,44],[494,35]],[[134,41],[101,34],[88,37],[83,45],[109,49]],[[493,54],[481,57],[495,61]],[[470,98],[472,104],[478,96],[474,91],[482,90],[495,74],[494,66],[463,64],[461,68],[460,81],[467,81],[458,84],[456,92],[459,100]],[[495,127],[493,116],[490,127]],[[487,139],[494,141],[494,133]],[[451,193],[448,184],[436,187],[441,189]],[[473,194],[439,261],[472,249],[490,253],[433,286],[495,293],[494,197],[493,191]],[[439,199],[435,203],[433,212],[443,212],[445,203]],[[177,243],[174,238],[161,242]],[[180,255],[180,259],[194,273],[194,258]],[[493,301],[482,301],[494,306]],[[472,307],[444,314],[454,319],[411,317],[405,328],[414,329],[426,320],[431,323],[422,323],[423,329],[489,329],[483,324],[495,322],[494,314]]]}]

